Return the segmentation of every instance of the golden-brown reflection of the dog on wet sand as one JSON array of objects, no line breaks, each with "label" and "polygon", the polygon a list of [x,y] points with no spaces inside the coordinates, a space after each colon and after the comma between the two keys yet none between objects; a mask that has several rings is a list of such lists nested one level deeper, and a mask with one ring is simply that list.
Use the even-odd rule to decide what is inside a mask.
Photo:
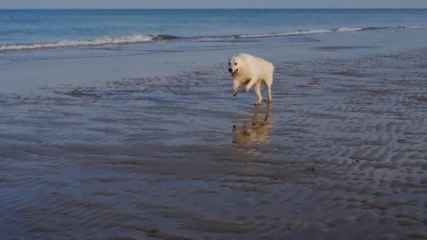
[{"label": "golden-brown reflection of the dog on wet sand", "polygon": [[232,126],[233,143],[265,143],[270,139],[271,112],[270,105],[267,107],[265,117],[262,119],[263,109],[256,107],[254,117],[251,122],[245,122],[241,126]]}]

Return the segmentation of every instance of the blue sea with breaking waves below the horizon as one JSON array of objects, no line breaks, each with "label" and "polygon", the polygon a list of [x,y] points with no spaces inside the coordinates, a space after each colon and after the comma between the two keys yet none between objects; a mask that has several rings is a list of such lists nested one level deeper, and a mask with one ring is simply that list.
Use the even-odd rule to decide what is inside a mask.
[{"label": "blue sea with breaking waves below the horizon", "polygon": [[0,10],[0,51],[427,27],[427,9]]}]

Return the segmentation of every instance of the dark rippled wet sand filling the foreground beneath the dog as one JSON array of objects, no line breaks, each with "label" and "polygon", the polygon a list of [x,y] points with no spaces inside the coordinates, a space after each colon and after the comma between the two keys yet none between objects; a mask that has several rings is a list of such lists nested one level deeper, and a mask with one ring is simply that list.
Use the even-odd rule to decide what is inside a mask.
[{"label": "dark rippled wet sand filling the foreground beneath the dog", "polygon": [[276,65],[261,107],[230,51],[1,93],[1,238],[426,239],[427,48],[363,49],[252,49]]}]

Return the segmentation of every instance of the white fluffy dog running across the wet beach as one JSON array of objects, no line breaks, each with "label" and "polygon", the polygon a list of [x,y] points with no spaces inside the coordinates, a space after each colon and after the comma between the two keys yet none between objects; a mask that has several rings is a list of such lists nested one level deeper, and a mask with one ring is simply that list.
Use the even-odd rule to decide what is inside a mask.
[{"label": "white fluffy dog running across the wet beach", "polygon": [[274,71],[275,66],[262,58],[247,53],[235,55],[228,62],[228,72],[231,73],[233,78],[233,95],[237,95],[237,88],[241,84],[246,84],[244,87],[246,93],[254,86],[255,93],[258,95],[258,101],[254,102],[254,105],[261,105],[263,100],[263,97],[261,97],[261,84],[264,84],[265,88],[267,88],[268,102],[271,102],[271,85]]}]

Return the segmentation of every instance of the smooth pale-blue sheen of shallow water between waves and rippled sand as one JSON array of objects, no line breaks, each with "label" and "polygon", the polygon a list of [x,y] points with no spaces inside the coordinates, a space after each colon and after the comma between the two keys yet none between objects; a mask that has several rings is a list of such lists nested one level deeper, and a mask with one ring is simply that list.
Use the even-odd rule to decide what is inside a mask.
[{"label": "smooth pale-blue sheen of shallow water between waves and rippled sand", "polygon": [[[102,84],[147,76],[168,76],[192,72],[197,68],[219,66],[231,55],[247,51],[274,61],[289,58],[355,58],[364,55],[395,53],[421,48],[419,41],[427,29],[401,32],[379,31],[357,34],[320,34],[310,37],[278,37],[248,43],[199,43],[188,45],[145,44],[114,48],[63,49],[1,53],[0,93],[25,93],[60,84]],[[351,36],[351,37],[350,37]],[[349,38],[350,37],[350,38]],[[409,48],[409,50],[411,49]],[[204,58],[209,53],[209,58]],[[221,71],[221,67],[218,67]],[[286,76],[286,75],[284,75]],[[223,79],[228,79],[223,74]]]}]

